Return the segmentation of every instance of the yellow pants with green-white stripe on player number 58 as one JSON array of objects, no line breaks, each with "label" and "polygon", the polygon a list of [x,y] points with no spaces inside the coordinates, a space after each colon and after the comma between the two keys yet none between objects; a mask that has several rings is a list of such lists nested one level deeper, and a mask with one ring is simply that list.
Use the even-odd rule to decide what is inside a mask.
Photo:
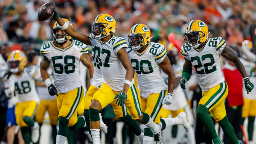
[{"label": "yellow pants with green-white stripe on player number 58", "polygon": [[57,107],[59,110],[58,117],[62,116],[68,119],[68,126],[73,126],[77,122],[78,105],[82,102],[84,89],[82,86],[70,90],[66,93],[58,93],[56,96]]}]

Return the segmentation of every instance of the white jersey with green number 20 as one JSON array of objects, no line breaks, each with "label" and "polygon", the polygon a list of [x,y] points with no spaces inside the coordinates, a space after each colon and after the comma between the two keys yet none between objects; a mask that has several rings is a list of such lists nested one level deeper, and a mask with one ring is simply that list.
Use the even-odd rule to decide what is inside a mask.
[{"label": "white jersey with green number 20", "polygon": [[156,94],[162,90],[168,90],[159,67],[167,54],[167,50],[162,44],[150,42],[141,53],[132,50],[131,47],[127,48],[127,52],[132,67],[137,73],[140,96],[147,98],[150,93]]}]

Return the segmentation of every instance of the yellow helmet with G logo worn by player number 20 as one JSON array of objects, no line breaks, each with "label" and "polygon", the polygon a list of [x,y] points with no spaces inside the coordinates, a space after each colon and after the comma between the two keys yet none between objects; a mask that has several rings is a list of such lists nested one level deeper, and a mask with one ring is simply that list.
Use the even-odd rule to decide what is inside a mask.
[{"label": "yellow helmet with G logo worn by player number 20", "polygon": [[135,24],[129,32],[128,41],[132,49],[139,50],[150,41],[150,29],[145,24]]}]

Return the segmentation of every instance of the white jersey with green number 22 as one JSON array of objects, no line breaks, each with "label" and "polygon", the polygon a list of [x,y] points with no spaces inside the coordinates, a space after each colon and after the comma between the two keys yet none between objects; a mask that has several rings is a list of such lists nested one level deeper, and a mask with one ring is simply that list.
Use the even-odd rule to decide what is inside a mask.
[{"label": "white jersey with green number 22", "polygon": [[224,81],[220,69],[220,54],[225,48],[226,42],[223,38],[208,38],[201,50],[183,44],[180,52],[184,58],[189,60],[196,69],[199,86],[206,92]]}]

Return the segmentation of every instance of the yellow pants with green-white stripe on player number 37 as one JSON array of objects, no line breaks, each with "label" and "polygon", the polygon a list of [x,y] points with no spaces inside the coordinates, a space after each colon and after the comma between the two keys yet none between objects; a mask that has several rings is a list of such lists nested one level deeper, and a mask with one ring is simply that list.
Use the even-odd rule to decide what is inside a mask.
[{"label": "yellow pants with green-white stripe on player number 37", "polygon": [[116,92],[112,90],[110,86],[103,83],[100,89],[98,89],[93,95],[92,100],[98,100],[102,109],[108,104],[111,104],[118,117],[126,116],[127,107],[128,113],[132,116],[132,119],[137,120],[142,115],[142,111],[140,107],[140,96],[138,96],[134,84],[128,89],[128,97],[123,106],[118,106],[118,104],[116,104],[116,99],[114,100],[114,97],[120,92],[121,91]]}]

